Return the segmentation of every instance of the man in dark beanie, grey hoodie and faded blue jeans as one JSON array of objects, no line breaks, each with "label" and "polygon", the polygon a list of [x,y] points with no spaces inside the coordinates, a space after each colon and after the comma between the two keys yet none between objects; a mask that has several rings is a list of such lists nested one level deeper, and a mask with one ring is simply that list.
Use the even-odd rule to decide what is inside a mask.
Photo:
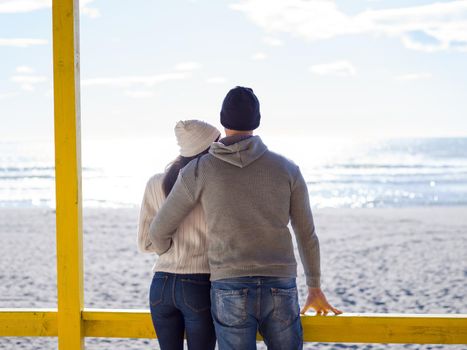
[{"label": "man in dark beanie, grey hoodie and faded blue jeans", "polygon": [[320,289],[319,242],[308,189],[298,166],[267,149],[259,136],[259,102],[252,89],[229,91],[221,110],[226,137],[188,164],[151,223],[163,254],[183,218],[200,201],[208,225],[211,311],[219,349],[256,349],[259,331],[269,349],[303,347],[292,224],[305,268],[302,313],[341,313]]}]

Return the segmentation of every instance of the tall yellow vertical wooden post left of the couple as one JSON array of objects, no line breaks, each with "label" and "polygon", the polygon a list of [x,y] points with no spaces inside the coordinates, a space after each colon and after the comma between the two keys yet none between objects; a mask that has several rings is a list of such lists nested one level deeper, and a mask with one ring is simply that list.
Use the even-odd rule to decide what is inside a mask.
[{"label": "tall yellow vertical wooden post left of the couple", "polygon": [[58,345],[84,348],[78,0],[53,0]]}]

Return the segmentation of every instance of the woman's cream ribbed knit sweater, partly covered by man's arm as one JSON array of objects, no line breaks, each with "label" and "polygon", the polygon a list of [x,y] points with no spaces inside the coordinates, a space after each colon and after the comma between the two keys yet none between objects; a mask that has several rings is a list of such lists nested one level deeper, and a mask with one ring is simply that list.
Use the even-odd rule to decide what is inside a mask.
[{"label": "woman's cream ribbed knit sweater, partly covered by man's arm", "polygon": [[[144,253],[155,253],[149,240],[149,225],[165,201],[164,175],[151,177],[144,192],[138,225],[138,249]],[[156,259],[153,272],[209,273],[206,232],[204,213],[197,204],[178,227],[170,249]]]}]

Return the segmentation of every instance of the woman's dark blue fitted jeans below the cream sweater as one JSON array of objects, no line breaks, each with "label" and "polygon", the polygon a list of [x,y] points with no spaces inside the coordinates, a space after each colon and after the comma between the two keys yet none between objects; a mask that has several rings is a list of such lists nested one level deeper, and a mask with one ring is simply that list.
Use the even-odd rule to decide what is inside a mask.
[{"label": "woman's dark blue fitted jeans below the cream sweater", "polygon": [[152,322],[162,350],[209,350],[216,345],[208,274],[156,272],[149,291]]}]

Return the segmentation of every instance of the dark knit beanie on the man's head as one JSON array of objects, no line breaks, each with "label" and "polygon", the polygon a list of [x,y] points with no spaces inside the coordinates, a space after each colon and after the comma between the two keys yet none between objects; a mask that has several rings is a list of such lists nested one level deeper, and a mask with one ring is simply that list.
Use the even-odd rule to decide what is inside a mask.
[{"label": "dark knit beanie on the man's head", "polygon": [[259,126],[259,101],[253,90],[237,86],[225,96],[221,109],[224,128],[239,131],[254,130]]}]

